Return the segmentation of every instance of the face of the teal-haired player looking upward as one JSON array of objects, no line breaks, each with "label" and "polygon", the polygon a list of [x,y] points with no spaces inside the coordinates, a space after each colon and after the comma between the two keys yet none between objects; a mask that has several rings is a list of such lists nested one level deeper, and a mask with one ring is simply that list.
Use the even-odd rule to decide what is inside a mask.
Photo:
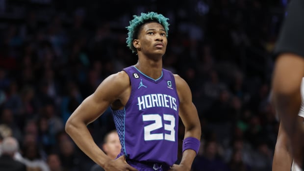
[{"label": "face of the teal-haired player looking upward", "polygon": [[140,50],[146,54],[164,55],[167,48],[167,36],[159,23],[148,23],[141,27],[138,36]]}]

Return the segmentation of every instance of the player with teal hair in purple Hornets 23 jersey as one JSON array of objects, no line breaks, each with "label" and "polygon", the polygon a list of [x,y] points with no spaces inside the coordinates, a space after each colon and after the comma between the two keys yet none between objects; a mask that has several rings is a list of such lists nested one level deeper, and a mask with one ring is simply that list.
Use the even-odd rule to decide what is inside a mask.
[{"label": "player with teal hair in purple Hornets 23 jersey", "polygon": [[[162,68],[168,18],[154,12],[133,16],[127,47],[137,64],[108,76],[66,123],[76,145],[105,171],[190,171],[200,147],[201,124],[188,84]],[[87,124],[111,106],[121,153],[110,159],[94,143]],[[178,165],[178,117],[185,126]]]}]

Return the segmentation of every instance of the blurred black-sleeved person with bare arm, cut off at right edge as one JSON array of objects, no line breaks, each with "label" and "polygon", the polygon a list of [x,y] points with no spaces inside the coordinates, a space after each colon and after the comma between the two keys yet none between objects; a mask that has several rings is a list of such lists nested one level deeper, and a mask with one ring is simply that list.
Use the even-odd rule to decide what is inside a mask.
[{"label": "blurred black-sleeved person with bare arm, cut off at right edge", "polygon": [[300,84],[304,76],[304,0],[291,0],[275,48],[276,65],[272,80],[274,104],[286,132],[293,158],[300,167],[304,154]]}]

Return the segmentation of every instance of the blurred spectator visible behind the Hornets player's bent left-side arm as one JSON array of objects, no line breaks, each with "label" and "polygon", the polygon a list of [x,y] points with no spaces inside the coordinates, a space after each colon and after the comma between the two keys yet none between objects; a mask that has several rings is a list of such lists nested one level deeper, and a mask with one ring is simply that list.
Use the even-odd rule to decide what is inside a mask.
[{"label": "blurred spectator visible behind the Hornets player's bent left-side arm", "polygon": [[[115,159],[118,156],[121,148],[122,146],[116,130],[112,130],[104,136],[102,149],[111,159]],[[104,171],[104,169],[102,169],[98,164],[95,164],[91,168],[91,171]]]}]

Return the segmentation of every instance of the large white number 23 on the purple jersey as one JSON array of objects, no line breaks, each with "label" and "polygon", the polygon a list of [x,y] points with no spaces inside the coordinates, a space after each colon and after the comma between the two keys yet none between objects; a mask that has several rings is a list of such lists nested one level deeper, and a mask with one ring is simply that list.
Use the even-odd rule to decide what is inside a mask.
[{"label": "large white number 23 on the purple jersey", "polygon": [[[169,121],[170,124],[162,122],[162,118],[159,114],[148,114],[143,115],[143,121],[154,121],[144,127],[144,139],[145,141],[150,140],[168,140],[175,141],[175,117],[173,115],[164,114],[164,121]],[[165,130],[170,131],[170,134],[166,133],[151,133],[154,130],[164,127]]]}]

